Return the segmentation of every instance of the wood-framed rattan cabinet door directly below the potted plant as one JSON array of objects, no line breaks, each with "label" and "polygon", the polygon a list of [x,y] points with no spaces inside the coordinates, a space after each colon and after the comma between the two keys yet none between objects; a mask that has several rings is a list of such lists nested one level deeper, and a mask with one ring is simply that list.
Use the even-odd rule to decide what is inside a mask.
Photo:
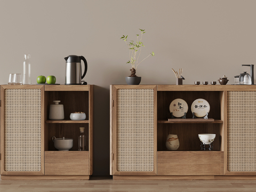
[{"label": "wood-framed rattan cabinet door directly below the potted plant", "polygon": [[114,175],[156,174],[156,94],[155,85],[113,86]]}]

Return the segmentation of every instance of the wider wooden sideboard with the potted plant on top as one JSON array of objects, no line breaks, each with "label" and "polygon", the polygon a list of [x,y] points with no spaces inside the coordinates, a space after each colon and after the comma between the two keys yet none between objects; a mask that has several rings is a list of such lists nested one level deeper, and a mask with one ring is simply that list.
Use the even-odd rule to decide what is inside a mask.
[{"label": "wider wooden sideboard with the potted plant on top", "polygon": [[[168,121],[174,99],[188,103],[186,121]],[[193,119],[196,99],[210,104]],[[189,120],[193,119],[193,120]],[[256,179],[256,85],[110,85],[110,174],[113,179]],[[178,150],[165,146],[177,134]],[[213,150],[198,134],[214,133]]]}]

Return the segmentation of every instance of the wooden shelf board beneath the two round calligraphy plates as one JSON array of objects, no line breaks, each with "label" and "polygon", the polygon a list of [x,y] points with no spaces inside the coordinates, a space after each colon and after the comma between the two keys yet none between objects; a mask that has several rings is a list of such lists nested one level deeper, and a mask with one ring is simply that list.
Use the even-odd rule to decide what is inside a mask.
[{"label": "wooden shelf board beneath the two round calligraphy plates", "polygon": [[161,119],[161,120],[157,120],[157,123],[223,123],[222,120],[216,120],[213,118],[208,118],[208,119],[204,119],[204,118],[186,118],[186,119],[182,119],[182,118],[174,118],[174,119]]}]

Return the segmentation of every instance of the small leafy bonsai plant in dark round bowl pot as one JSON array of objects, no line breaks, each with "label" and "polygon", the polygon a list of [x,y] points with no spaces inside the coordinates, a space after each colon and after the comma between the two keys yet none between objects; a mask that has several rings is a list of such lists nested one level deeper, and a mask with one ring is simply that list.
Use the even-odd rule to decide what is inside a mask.
[{"label": "small leafy bonsai plant in dark round bowl pot", "polygon": [[[120,39],[123,39],[123,41],[126,43],[126,45],[129,47],[130,53],[129,53],[129,58],[130,60],[127,61],[126,63],[131,63],[132,68],[130,69],[131,75],[129,77],[125,77],[125,81],[128,85],[139,85],[141,81],[141,77],[138,77],[136,75],[136,70],[138,65],[145,59],[147,59],[150,55],[154,56],[154,52],[150,53],[145,59],[139,61],[140,53],[141,53],[141,47],[144,46],[142,43],[142,35],[145,34],[145,29],[140,29],[141,31],[141,36],[137,34],[137,41],[131,41],[130,43],[127,43],[127,35],[122,36]],[[140,36],[140,41],[139,41],[139,36]],[[138,57],[137,57],[138,54]]]}]

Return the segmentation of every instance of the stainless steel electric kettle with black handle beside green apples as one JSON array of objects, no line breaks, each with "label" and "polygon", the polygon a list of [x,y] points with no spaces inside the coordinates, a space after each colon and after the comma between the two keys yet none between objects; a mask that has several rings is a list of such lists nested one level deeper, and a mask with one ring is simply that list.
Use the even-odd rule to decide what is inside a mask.
[{"label": "stainless steel electric kettle with black handle beside green apples", "polygon": [[[66,60],[66,83],[65,85],[81,85],[82,79],[87,72],[87,61],[83,56],[69,55]],[[81,60],[84,61],[84,73],[82,75]],[[87,84],[84,82],[83,84]]]}]

